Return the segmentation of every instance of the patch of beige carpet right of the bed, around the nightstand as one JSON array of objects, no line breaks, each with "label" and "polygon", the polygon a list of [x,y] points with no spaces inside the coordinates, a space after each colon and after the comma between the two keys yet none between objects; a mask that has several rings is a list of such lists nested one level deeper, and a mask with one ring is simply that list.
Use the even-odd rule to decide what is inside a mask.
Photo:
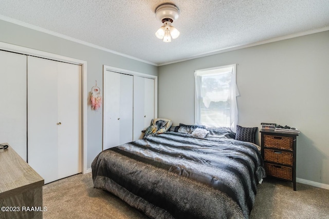
[{"label": "patch of beige carpet right of the bed, around the nightstand", "polygon": [[258,185],[250,218],[329,218],[329,190],[266,179]]}]

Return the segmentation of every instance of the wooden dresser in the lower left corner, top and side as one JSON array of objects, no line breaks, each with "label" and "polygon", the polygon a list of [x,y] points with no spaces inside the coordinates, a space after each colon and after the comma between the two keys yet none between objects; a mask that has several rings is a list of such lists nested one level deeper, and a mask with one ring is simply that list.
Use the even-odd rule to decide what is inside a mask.
[{"label": "wooden dresser in the lower left corner, top and side", "polygon": [[43,185],[43,178],[10,146],[0,149],[0,218],[42,218]]}]

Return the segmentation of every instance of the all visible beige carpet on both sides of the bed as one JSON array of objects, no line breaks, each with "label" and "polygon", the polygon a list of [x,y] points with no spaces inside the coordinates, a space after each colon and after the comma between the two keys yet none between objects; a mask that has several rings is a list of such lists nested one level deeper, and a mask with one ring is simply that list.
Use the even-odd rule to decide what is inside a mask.
[{"label": "all visible beige carpet on both sides of the bed", "polygon": [[[148,218],[116,196],[93,188],[91,173],[64,178],[43,187],[44,218]],[[250,214],[255,218],[329,218],[329,190],[276,180],[258,186]]]}]

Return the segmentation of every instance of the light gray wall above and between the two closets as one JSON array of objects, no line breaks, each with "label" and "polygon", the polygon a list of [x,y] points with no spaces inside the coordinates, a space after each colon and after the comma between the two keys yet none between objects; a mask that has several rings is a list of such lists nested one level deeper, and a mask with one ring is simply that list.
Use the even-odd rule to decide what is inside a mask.
[{"label": "light gray wall above and between the two closets", "polygon": [[[157,75],[157,67],[0,20],[0,42],[81,59],[87,62],[87,89],[103,90],[103,65]],[[102,109],[87,111],[87,168],[102,150]]]}]

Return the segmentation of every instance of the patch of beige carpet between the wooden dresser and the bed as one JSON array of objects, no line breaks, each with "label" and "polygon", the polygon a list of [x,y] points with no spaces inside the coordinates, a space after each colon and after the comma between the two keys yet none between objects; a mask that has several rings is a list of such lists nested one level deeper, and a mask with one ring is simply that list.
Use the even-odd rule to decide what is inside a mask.
[{"label": "patch of beige carpet between the wooden dresser and the bed", "polygon": [[92,174],[78,174],[43,187],[43,218],[148,218],[118,197],[94,189]]}]

